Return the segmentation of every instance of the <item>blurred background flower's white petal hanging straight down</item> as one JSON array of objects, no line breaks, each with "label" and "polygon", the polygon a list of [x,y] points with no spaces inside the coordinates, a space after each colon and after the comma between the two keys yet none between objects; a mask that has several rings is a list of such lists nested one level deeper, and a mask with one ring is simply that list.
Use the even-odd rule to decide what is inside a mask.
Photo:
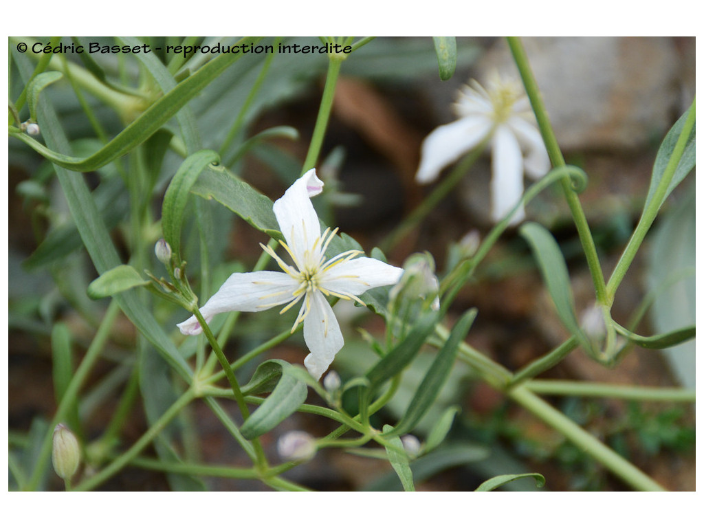
[{"label": "blurred background flower's white petal hanging straight down", "polygon": [[[501,126],[491,142],[491,218],[501,220],[523,194],[523,160],[518,140],[511,130]],[[523,206],[513,215],[511,224],[525,218]]]}]

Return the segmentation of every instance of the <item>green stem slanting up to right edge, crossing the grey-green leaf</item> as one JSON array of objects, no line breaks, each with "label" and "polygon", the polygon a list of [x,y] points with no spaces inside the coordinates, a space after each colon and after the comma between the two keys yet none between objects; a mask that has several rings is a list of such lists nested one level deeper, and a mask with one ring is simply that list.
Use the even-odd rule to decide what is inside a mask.
[{"label": "green stem slanting up to right edge, crossing the grey-green leaf", "polygon": [[628,268],[633,262],[633,259],[635,258],[638,249],[641,247],[643,239],[645,239],[648,230],[650,230],[650,226],[653,225],[655,217],[658,216],[658,210],[660,210],[662,201],[665,200],[667,188],[670,187],[670,182],[672,182],[674,172],[675,170],[677,170],[677,165],[679,165],[679,161],[682,158],[682,153],[684,153],[684,148],[686,147],[687,140],[689,139],[689,134],[691,134],[691,131],[694,127],[694,122],[696,118],[695,105],[696,100],[692,101],[692,106],[689,108],[689,114],[687,115],[687,119],[684,122],[684,126],[682,127],[682,132],[679,135],[679,138],[677,139],[677,144],[675,144],[674,146],[672,156],[670,156],[670,161],[667,163],[665,172],[662,173],[660,183],[658,183],[658,187],[655,189],[655,194],[653,194],[653,198],[648,203],[648,207],[643,210],[641,219],[639,220],[636,229],[631,235],[631,239],[628,241],[626,249],[624,249],[621,258],[616,264],[616,268],[611,274],[608,285],[606,287],[606,293],[608,294],[608,299],[611,303],[613,302],[616,290],[618,289],[619,285],[621,284],[621,281],[623,280],[623,277],[626,275]]}]

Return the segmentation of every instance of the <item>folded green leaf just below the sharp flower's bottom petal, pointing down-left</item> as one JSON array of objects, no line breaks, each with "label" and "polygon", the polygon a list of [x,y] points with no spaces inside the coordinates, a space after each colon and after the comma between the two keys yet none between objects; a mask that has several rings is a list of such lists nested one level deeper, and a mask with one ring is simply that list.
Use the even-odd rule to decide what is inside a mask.
[{"label": "folded green leaf just below the sharp flower's bottom petal, pointing down-left", "polygon": [[269,432],[284,418],[295,413],[306,401],[306,396],[308,396],[308,386],[289,375],[284,369],[279,383],[269,397],[249,418],[244,420],[240,429],[242,436],[251,440]]}]

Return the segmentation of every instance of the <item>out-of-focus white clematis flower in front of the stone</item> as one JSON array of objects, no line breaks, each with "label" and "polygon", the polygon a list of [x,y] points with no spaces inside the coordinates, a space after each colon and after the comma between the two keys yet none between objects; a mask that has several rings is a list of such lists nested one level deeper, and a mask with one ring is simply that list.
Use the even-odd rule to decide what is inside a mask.
[{"label": "out-of-focus white clematis flower in front of the stone", "polygon": [[[477,81],[460,90],[455,113],[459,119],[433,130],[421,146],[417,182],[429,183],[440,171],[474,149],[491,142],[491,218],[501,220],[523,194],[523,171],[535,180],[550,170],[550,158],[520,83],[498,75],[484,89]],[[525,216],[517,210],[511,223]]]}]

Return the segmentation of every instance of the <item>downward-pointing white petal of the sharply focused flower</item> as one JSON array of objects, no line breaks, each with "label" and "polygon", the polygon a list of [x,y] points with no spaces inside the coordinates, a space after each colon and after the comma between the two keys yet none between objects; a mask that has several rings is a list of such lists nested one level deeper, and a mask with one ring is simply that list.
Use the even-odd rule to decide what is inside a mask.
[{"label": "downward-pointing white petal of the sharply focused flower", "polygon": [[344,344],[337,318],[320,291],[310,295],[310,313],[303,321],[303,339],[310,350],[303,364],[311,376],[320,379]]}]

